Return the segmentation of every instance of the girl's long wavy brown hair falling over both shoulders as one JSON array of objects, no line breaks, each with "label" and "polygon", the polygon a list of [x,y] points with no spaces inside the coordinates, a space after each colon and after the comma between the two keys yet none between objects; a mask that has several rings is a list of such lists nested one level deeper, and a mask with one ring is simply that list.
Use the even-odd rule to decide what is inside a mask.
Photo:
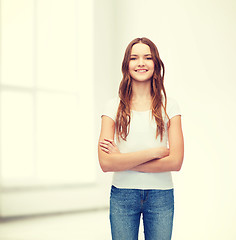
[{"label": "girl's long wavy brown hair falling over both shoulders", "polygon": [[[148,38],[136,38],[129,43],[126,48],[124,59],[122,62],[123,78],[119,87],[120,103],[116,115],[116,133],[118,139],[120,137],[126,141],[129,134],[131,111],[130,102],[132,98],[132,84],[131,76],[129,73],[129,61],[131,50],[134,44],[144,43],[150,47],[152,59],[154,62],[154,72],[151,80],[151,97],[152,97],[152,116],[155,118],[157,124],[156,137],[160,134],[161,141],[163,139],[163,133],[165,130],[164,120],[162,118],[162,107],[166,113],[167,97],[164,88],[164,74],[165,67],[160,59],[159,52],[156,45]],[[165,104],[163,104],[162,92],[165,98]],[[168,116],[168,115],[167,115]],[[169,116],[168,116],[169,118]]]}]

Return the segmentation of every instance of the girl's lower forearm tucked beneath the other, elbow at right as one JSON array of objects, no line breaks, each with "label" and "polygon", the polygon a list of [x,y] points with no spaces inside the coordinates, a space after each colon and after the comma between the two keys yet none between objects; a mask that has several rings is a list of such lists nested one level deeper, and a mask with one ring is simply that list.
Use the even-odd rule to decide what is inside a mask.
[{"label": "girl's lower forearm tucked beneath the other, elbow at right", "polygon": [[169,155],[164,158],[154,159],[152,161],[142,163],[130,170],[146,173],[179,171],[181,169],[182,162],[183,158]]}]

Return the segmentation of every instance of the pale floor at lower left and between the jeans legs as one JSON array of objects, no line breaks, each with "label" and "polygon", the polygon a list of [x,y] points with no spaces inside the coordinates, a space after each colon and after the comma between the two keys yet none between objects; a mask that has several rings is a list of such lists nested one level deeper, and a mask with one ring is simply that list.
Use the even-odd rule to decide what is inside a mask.
[{"label": "pale floor at lower left and between the jeans legs", "polygon": [[[140,240],[143,240],[142,226]],[[0,240],[109,240],[108,210],[0,222]]]}]

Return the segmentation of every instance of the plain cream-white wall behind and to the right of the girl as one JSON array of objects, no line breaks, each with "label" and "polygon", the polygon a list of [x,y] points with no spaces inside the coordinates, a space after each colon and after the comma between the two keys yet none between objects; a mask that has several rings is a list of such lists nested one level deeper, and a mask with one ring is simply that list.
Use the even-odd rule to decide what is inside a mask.
[{"label": "plain cream-white wall behind and to the right of the girl", "polygon": [[128,43],[148,37],[166,66],[167,95],[182,109],[185,157],[173,174],[173,239],[236,239],[235,1],[113,3],[115,81]]}]

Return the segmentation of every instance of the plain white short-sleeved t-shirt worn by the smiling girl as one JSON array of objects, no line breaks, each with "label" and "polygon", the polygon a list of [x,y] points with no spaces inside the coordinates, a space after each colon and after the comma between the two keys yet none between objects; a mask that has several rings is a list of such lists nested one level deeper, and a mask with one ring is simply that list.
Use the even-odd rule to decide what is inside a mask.
[{"label": "plain white short-sleeved t-shirt worn by the smiling girl", "polygon": [[[109,100],[102,113],[116,120],[116,113],[119,106],[119,98]],[[176,115],[181,115],[180,108],[176,100],[167,97],[166,112],[171,119]],[[130,131],[126,141],[120,139],[116,144],[121,153],[136,152],[154,147],[168,147],[168,118],[165,116],[165,132],[162,142],[160,135],[156,138],[156,122],[152,118],[152,111],[134,111],[131,110]],[[115,137],[116,140],[116,137]],[[171,189],[173,188],[171,172],[161,173],[143,173],[137,171],[114,172],[112,185],[117,188],[130,189]]]}]

